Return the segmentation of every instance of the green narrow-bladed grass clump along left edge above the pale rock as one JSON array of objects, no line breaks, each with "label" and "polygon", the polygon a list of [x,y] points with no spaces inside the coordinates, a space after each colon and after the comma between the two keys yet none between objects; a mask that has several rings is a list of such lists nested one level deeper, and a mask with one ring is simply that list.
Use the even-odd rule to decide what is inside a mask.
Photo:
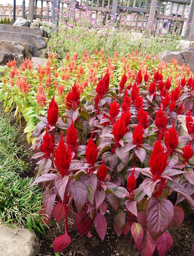
[{"label": "green narrow-bladed grass clump along left edge above the pale rock", "polygon": [[21,172],[28,171],[19,159],[21,150],[17,147],[18,127],[11,125],[9,115],[0,111],[0,223],[28,227],[44,233],[41,217],[41,188],[29,188],[33,178],[22,178]]}]

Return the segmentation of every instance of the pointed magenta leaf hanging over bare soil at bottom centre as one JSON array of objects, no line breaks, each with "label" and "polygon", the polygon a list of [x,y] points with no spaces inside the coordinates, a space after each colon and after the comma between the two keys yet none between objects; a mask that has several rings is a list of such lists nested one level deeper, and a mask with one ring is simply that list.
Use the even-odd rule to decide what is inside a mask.
[{"label": "pointed magenta leaf hanging over bare soil at bottom centre", "polygon": [[96,213],[95,219],[94,219],[94,226],[96,228],[96,232],[98,233],[101,240],[104,240],[104,237],[107,232],[107,221],[104,215],[100,213]]}]

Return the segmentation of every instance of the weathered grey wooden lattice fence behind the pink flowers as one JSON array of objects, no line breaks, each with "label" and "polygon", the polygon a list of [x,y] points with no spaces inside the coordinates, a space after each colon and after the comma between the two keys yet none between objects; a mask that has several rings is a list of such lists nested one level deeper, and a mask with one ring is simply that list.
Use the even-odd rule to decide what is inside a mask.
[{"label": "weathered grey wooden lattice fence behind the pink flowers", "polygon": [[[38,2],[41,3],[40,14],[36,13]],[[44,2],[46,7],[43,7]],[[160,29],[168,33],[170,30],[181,34],[182,38],[194,40],[194,0],[29,0],[28,19],[46,17],[56,24],[56,9],[67,15],[74,6],[80,10],[87,8],[96,21],[103,16],[113,23],[122,20],[131,27],[146,28],[148,32]]]}]

